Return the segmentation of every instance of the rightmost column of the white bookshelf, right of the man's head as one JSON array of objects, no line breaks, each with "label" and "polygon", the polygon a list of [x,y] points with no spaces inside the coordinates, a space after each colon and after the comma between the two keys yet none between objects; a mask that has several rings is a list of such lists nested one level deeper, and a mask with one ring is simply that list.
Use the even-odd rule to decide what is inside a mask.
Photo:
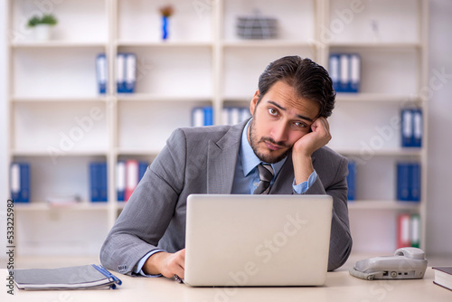
[{"label": "rightmost column of the white bookshelf, right of the man's head", "polygon": [[[360,93],[338,93],[330,119],[329,145],[358,165],[357,200],[349,202],[353,251],[394,250],[402,212],[420,214],[425,249],[428,1],[363,1],[354,11],[351,5],[328,2],[323,28],[333,34],[324,35],[322,45],[325,60],[332,52],[355,52],[362,59]],[[375,22],[378,34],[372,30]],[[400,147],[400,109],[407,106],[423,110],[420,148]],[[419,203],[396,200],[396,164],[404,160],[421,165]]]}]

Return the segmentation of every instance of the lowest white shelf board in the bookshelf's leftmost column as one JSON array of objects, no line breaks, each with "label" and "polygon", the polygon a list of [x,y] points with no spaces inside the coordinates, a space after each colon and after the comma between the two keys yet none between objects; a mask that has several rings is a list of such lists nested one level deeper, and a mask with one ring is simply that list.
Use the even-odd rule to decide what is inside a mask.
[{"label": "lowest white shelf board in the bookshelf's leftmost column", "polygon": [[69,211],[107,211],[108,203],[14,203],[14,210],[20,212],[69,210]]}]

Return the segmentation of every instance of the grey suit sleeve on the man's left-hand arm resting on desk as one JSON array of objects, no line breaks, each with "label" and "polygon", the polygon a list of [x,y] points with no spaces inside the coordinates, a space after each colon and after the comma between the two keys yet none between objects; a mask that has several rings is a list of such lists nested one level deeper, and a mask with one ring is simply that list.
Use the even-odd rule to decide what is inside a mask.
[{"label": "grey suit sleeve on the man's left-hand arm resting on desk", "polygon": [[101,247],[107,269],[131,275],[137,262],[157,249],[184,186],[184,144],[184,132],[176,130],[147,168]]}]

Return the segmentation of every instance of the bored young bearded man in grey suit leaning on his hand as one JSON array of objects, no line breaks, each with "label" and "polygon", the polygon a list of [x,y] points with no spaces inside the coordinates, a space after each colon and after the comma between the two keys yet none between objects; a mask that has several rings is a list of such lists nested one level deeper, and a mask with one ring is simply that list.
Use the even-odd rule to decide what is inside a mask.
[{"label": "bored young bearded man in grey suit leaning on his hand", "polygon": [[[259,77],[249,121],[176,129],[137,185],[100,251],[108,269],[184,278],[185,206],[191,193],[254,193],[260,163],[273,174],[265,193],[334,199],[328,270],[352,249],[347,160],[325,145],[335,92],[327,71],[284,57]],[[271,177],[271,175],[270,175]]]}]

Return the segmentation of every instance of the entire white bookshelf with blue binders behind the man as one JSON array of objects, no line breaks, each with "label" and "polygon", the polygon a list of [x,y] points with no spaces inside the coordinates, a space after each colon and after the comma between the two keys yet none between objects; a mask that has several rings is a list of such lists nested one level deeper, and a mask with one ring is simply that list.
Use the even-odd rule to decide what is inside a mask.
[{"label": "entire white bookshelf with blue binders behind the man", "polygon": [[[46,7],[27,0],[8,1],[12,33],[7,44],[8,154],[11,161],[28,161],[32,168],[32,202],[16,205],[21,217],[19,253],[98,253],[125,204],[116,200],[118,160],[152,162],[175,127],[191,125],[194,107],[211,105],[217,113],[215,124],[222,124],[221,109],[248,107],[260,72],[278,57],[298,54],[327,68],[330,52],[361,54],[362,92],[339,93],[330,121],[334,137],[330,145],[344,156],[363,157],[360,142],[369,143],[374,126],[383,127],[403,104],[415,101],[427,117],[427,99],[421,96],[421,88],[427,86],[427,0],[363,1],[357,13],[345,0],[171,3],[175,13],[170,18],[170,38],[162,42],[158,9],[166,4],[163,0],[67,0]],[[394,7],[391,14],[385,5]],[[278,39],[247,41],[236,36],[236,16],[254,14],[258,7],[259,14],[278,18]],[[40,12],[60,20],[52,41],[34,42],[24,25]],[[372,20],[381,25],[378,42],[369,35]],[[338,31],[334,26],[341,22]],[[334,34],[328,36],[328,30]],[[108,60],[105,95],[97,93],[95,72],[95,58],[101,52]],[[137,54],[134,94],[115,92],[118,52]],[[385,64],[387,60],[391,64]],[[424,120],[424,133],[426,125]],[[398,212],[419,212],[425,229],[426,138],[421,148],[404,149],[397,132],[383,147],[372,150],[371,158],[366,154],[363,161],[369,169],[359,190],[369,193],[350,203],[353,250],[393,250]],[[400,158],[415,158],[422,165],[420,203],[396,202],[392,196],[392,165]],[[108,164],[108,202],[89,203],[88,165],[99,160]],[[386,177],[383,188],[372,188],[370,183],[381,177]],[[49,193],[79,193],[82,202],[52,207],[44,203]],[[376,227],[363,221],[369,215]],[[59,231],[80,222],[84,224],[80,232],[71,232],[73,241]],[[81,238],[86,228],[92,238]],[[376,241],[382,241],[379,247],[366,239],[370,230]],[[421,242],[424,238],[422,231]],[[58,247],[60,241],[66,248]]]}]

